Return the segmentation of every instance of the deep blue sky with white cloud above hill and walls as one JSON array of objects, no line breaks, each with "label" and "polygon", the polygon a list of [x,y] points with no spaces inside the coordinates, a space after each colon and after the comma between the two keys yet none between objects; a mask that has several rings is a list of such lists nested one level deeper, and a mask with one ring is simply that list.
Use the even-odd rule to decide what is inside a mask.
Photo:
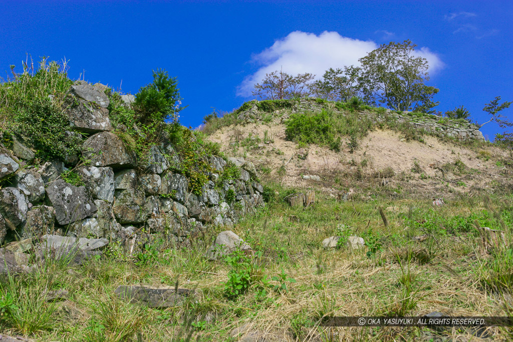
[{"label": "deep blue sky with white cloud above hill and walls", "polygon": [[[356,63],[365,49],[410,39],[430,62],[438,110],[464,105],[480,123],[495,96],[513,100],[509,1],[23,1],[0,0],[0,72],[34,59],[69,60],[136,93],[165,68],[179,82],[181,121],[251,99],[251,82],[277,66],[314,72]],[[362,55],[363,54],[363,55]],[[333,65],[332,65],[333,64]],[[513,119],[513,108],[505,111]],[[501,131],[483,126],[493,138]]]}]

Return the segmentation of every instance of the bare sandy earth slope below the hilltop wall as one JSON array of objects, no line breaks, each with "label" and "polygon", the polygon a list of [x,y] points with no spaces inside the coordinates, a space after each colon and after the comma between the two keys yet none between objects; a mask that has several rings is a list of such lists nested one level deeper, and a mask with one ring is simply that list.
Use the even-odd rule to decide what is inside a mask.
[{"label": "bare sandy earth slope below the hilltop wall", "polygon": [[[300,148],[285,139],[283,117],[223,127],[209,139],[220,143],[227,155],[251,160],[261,176],[276,174],[286,186],[324,188],[333,195],[359,181],[378,181],[433,196],[511,186],[511,169],[504,163],[509,154],[487,143],[470,147],[429,135],[419,142],[406,140],[400,132],[375,129],[353,153],[347,139],[340,152],[316,145]],[[304,175],[318,175],[320,180],[304,179]]]}]

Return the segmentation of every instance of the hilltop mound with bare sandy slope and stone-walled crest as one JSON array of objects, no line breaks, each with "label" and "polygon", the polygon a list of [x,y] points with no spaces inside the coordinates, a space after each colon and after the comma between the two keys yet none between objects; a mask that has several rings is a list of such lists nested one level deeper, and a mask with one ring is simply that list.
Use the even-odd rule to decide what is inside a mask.
[{"label": "hilltop mound with bare sandy slope and stone-walled crest", "polygon": [[[301,136],[287,137],[291,115],[322,111],[334,131],[347,132],[338,134],[336,150],[305,143]],[[509,152],[486,142],[479,127],[466,120],[343,108],[317,99],[255,100],[226,117],[207,120],[203,130],[227,155],[251,160],[262,177],[332,196],[353,189],[365,197],[369,186],[380,184],[389,193],[427,197],[511,189]]]}]

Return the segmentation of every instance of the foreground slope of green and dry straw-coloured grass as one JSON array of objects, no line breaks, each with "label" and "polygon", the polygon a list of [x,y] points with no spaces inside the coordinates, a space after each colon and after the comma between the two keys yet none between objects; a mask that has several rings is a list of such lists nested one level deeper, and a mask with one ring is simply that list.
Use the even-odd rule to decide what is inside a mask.
[{"label": "foreground slope of green and dry straw-coloured grass", "polygon": [[[504,297],[513,285],[511,256],[504,250],[485,253],[471,224],[477,220],[482,226],[511,231],[513,197],[465,198],[433,208],[424,199],[338,203],[318,193],[313,207],[292,209],[281,201],[288,191],[275,189],[280,192],[275,200],[233,229],[257,255],[252,261],[240,260],[252,264],[247,269],[253,280],[245,294],[227,298],[223,283],[234,267],[206,261],[202,254],[208,246],[201,240],[193,241],[190,249],[147,251],[146,257],[127,258],[112,250],[106,258],[84,266],[68,270],[49,265],[35,276],[11,279],[13,286],[3,282],[4,297],[10,292],[18,306],[13,312],[26,315],[16,321],[4,314],[2,331],[37,340],[166,341],[191,332],[194,340],[235,341],[238,338],[229,337],[231,330],[249,323],[251,329],[287,332],[290,340],[308,340],[308,336],[325,341],[413,340],[415,336],[453,338],[467,331],[333,328],[330,332],[317,325],[323,315],[512,313]],[[388,228],[378,207],[385,208]],[[350,234],[363,236],[368,246],[358,251],[324,250],[322,239],[344,234],[339,224],[345,224]],[[214,236],[221,230],[209,233]],[[423,234],[429,235],[423,242],[412,240]],[[500,262],[496,265],[493,260]],[[497,266],[499,273],[494,271]],[[245,271],[244,266],[235,269]],[[280,281],[266,281],[263,276],[270,279],[282,272],[287,290],[274,290]],[[155,310],[125,304],[113,294],[123,284],[174,286],[176,281],[200,290],[198,301]],[[43,288],[65,288],[69,299],[43,304]],[[494,340],[506,340],[511,330],[491,328],[490,333]]]}]

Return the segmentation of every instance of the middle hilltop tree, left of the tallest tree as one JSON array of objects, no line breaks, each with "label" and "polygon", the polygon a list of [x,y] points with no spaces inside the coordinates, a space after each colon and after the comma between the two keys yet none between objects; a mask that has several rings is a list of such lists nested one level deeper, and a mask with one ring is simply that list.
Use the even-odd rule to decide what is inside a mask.
[{"label": "middle hilltop tree, left of the tallest tree", "polygon": [[360,94],[361,82],[360,67],[329,68],[322,79],[309,85],[309,89],[315,97],[348,102]]}]

